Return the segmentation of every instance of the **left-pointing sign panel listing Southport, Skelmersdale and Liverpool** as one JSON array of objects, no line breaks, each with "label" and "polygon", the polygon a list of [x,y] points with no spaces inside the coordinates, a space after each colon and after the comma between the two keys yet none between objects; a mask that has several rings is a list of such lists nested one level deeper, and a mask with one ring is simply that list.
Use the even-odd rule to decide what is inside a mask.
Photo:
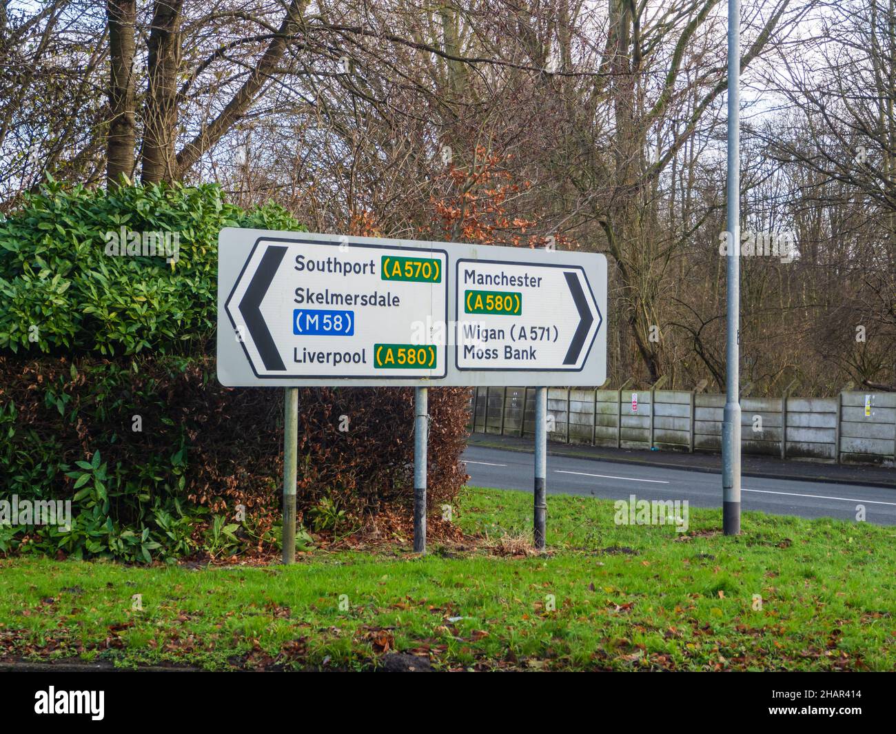
[{"label": "left-pointing sign panel listing Southport, Skelmersdale and Liverpool", "polygon": [[435,379],[446,346],[414,325],[446,320],[447,262],[444,250],[260,237],[224,307],[260,379]]}]

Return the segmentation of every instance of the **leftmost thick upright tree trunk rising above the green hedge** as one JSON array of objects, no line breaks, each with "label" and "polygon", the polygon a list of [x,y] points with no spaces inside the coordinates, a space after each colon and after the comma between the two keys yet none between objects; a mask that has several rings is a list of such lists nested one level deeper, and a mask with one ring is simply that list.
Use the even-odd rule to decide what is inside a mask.
[{"label": "leftmost thick upright tree trunk rising above the green hedge", "polygon": [[109,131],[106,179],[117,186],[134,171],[134,20],[136,0],[108,0]]}]

